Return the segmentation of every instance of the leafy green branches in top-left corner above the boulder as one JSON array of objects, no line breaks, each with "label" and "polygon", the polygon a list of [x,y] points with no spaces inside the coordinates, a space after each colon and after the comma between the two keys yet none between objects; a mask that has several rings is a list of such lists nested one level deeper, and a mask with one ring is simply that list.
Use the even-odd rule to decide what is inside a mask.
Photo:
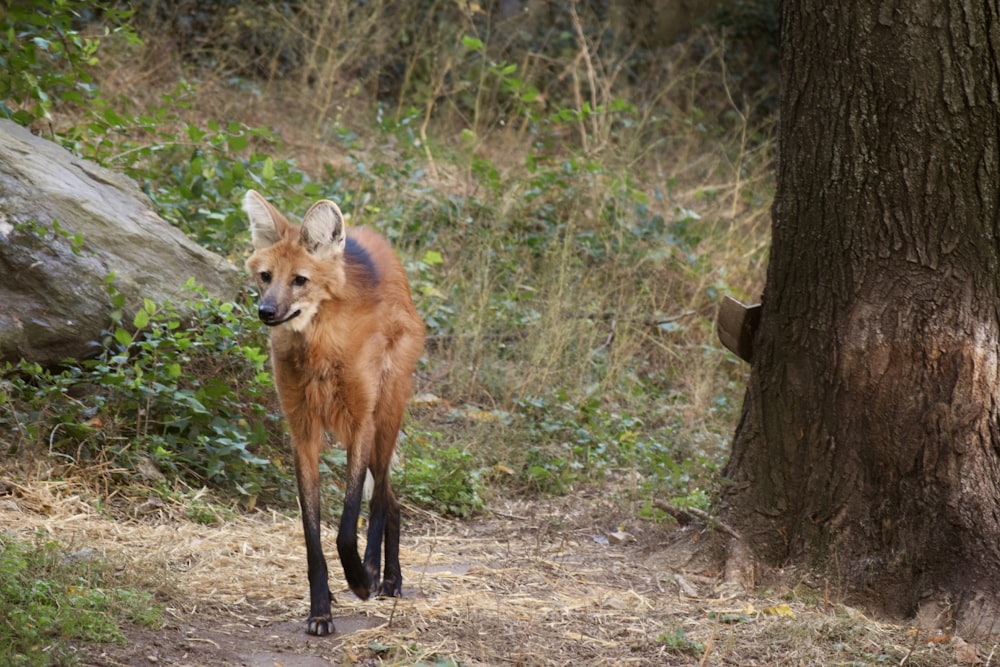
[{"label": "leafy green branches in top-left corner above the boulder", "polygon": [[0,7],[0,116],[22,125],[48,117],[59,102],[83,104],[97,91],[88,68],[100,40],[80,29],[81,19],[103,14],[130,39],[129,13],[113,3],[81,0],[8,2]]}]

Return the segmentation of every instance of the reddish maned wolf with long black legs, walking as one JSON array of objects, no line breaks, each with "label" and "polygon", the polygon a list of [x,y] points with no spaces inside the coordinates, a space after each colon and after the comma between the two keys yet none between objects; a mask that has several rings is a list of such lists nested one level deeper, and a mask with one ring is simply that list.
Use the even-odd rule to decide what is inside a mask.
[{"label": "reddish maned wolf with long black legs, walking", "polygon": [[[313,204],[301,226],[289,224],[260,194],[243,200],[254,253],[246,266],[260,290],[258,314],[271,327],[271,362],[295,450],[309,566],[306,631],[334,631],[320,543],[319,452],[323,432],[347,449],[344,513],[337,552],[362,598],[398,596],[399,503],[389,466],[424,348],[424,323],[389,244],[366,228],[344,225],[331,201]],[[358,518],[366,471],[375,480],[364,563]],[[383,536],[385,571],[379,585]]]}]

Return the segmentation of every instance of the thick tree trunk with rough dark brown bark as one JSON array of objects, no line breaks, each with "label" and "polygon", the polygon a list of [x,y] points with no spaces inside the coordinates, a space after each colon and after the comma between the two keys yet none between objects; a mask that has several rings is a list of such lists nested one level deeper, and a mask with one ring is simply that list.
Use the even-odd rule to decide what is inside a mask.
[{"label": "thick tree trunk with rough dark brown bark", "polygon": [[782,12],[771,259],[724,516],[761,562],[819,566],[848,599],[1000,632],[997,3]]}]

